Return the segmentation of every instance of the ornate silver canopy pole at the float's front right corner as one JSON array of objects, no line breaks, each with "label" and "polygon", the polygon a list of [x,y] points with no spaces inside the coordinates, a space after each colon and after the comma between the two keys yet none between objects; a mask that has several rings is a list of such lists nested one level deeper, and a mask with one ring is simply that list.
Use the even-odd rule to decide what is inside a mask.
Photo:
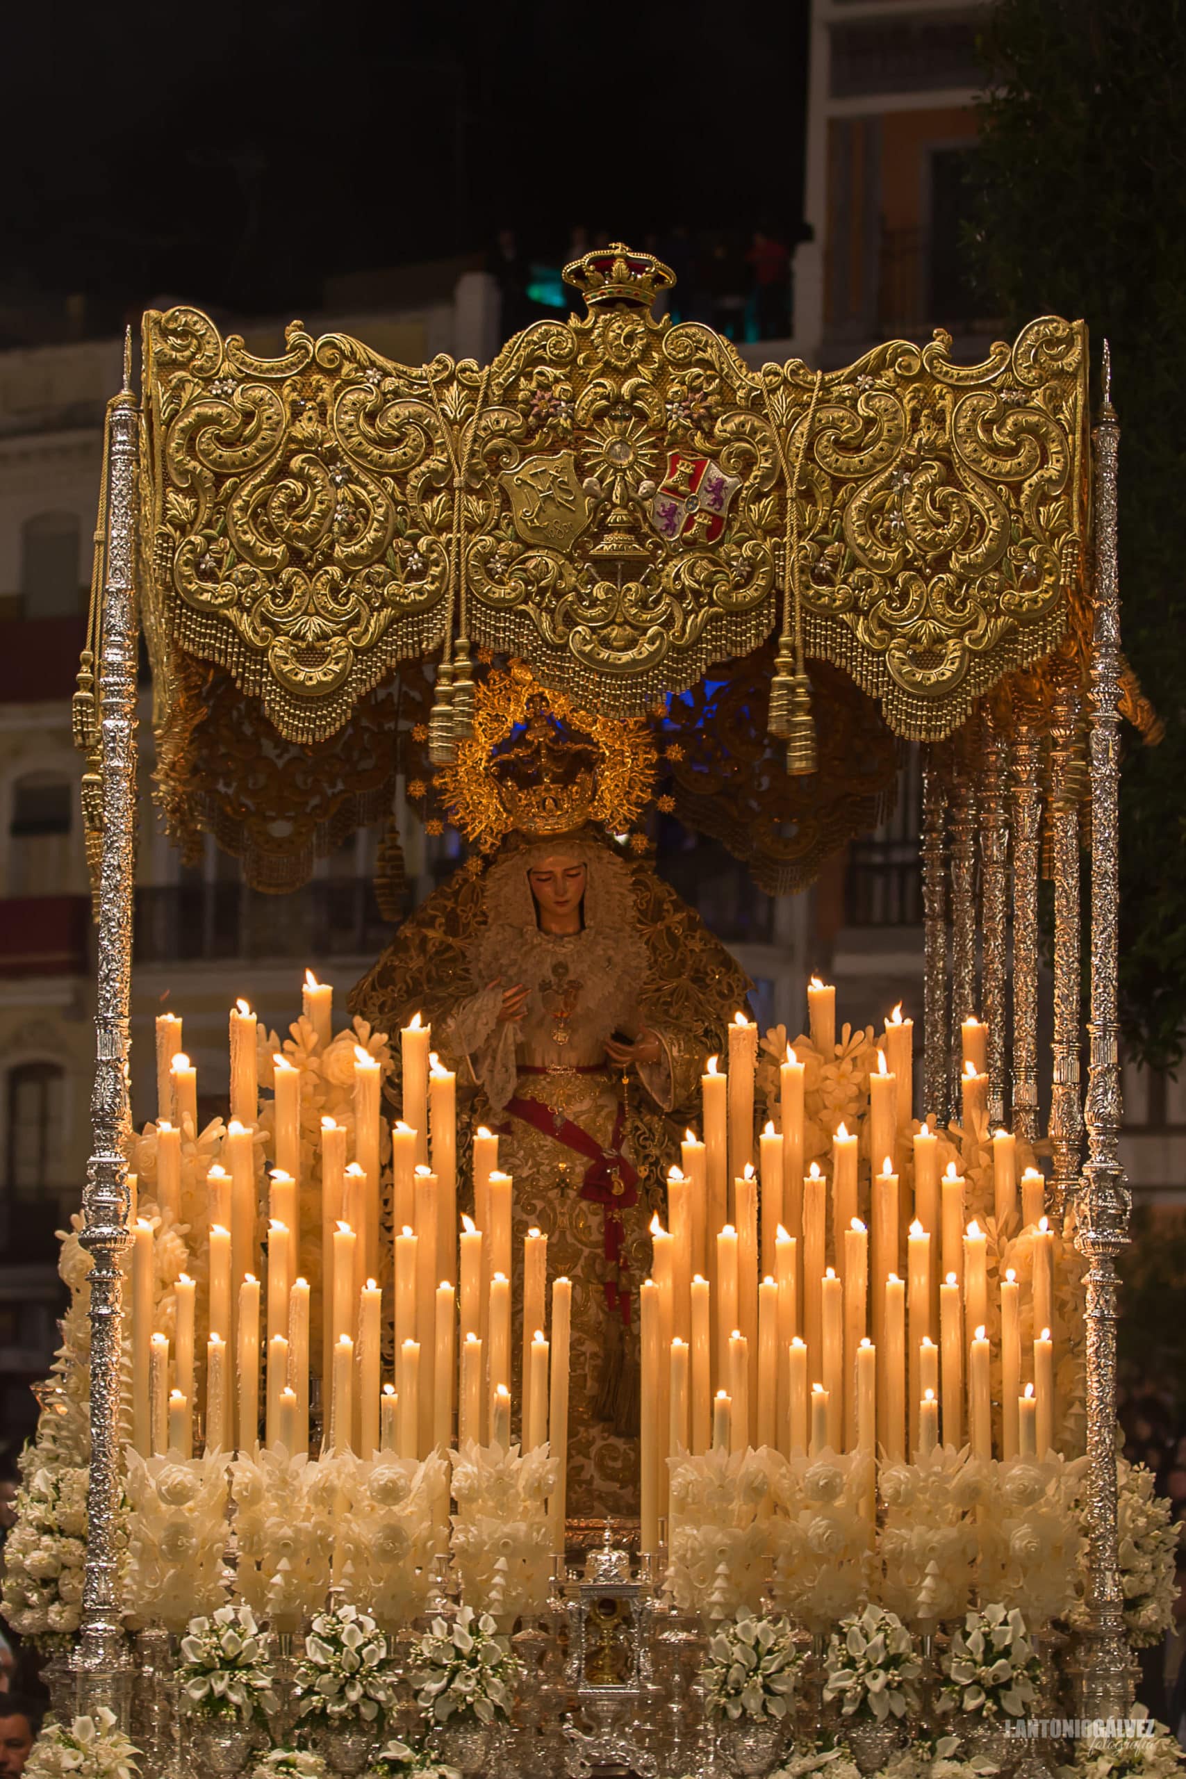
[{"label": "ornate silver canopy pole at the float's front right corner", "polygon": [[1086,1274],[1088,1583],[1081,1642],[1085,1717],[1122,1715],[1131,1699],[1117,1532],[1117,1254],[1129,1238],[1131,1195],[1120,1167],[1117,923],[1120,911],[1120,598],[1111,356],[1095,429],[1095,628],[1092,637],[1092,1012],[1086,1162],[1076,1240]]}]

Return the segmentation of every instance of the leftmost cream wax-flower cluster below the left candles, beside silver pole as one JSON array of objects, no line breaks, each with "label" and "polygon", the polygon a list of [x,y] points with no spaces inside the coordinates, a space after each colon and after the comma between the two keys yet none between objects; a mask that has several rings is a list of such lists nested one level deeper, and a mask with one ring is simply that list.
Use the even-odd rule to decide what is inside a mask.
[{"label": "leftmost cream wax-flower cluster below the left candles, beside silver pole", "polygon": [[128,1446],[126,1464],[126,1610],[180,1631],[224,1599],[226,1461],[176,1452],[144,1459]]}]

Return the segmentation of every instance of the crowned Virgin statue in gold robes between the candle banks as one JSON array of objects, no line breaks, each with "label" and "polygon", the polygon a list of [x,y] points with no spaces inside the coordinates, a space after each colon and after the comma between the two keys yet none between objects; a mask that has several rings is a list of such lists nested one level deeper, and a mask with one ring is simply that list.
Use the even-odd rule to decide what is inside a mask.
[{"label": "crowned Virgin statue in gold robes between the candle banks", "polygon": [[637,1510],[647,1226],[654,1211],[665,1220],[667,1169],[699,1119],[704,1059],[725,1048],[750,987],[622,843],[653,760],[645,724],[574,712],[517,665],[491,674],[473,738],[437,776],[487,856],[416,909],[352,996],[354,1012],[388,1032],[416,1012],[432,1023],[432,1048],[457,1071],[459,1179],[466,1131],[498,1131],[498,1165],[514,1176],[516,1267],[523,1235],[539,1228],[549,1283],[573,1281],[576,1517]]}]

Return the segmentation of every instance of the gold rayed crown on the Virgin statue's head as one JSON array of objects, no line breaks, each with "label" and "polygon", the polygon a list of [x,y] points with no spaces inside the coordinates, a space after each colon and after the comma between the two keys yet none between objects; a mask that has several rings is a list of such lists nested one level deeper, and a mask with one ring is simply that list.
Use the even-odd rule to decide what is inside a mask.
[{"label": "gold rayed crown on the Virgin statue's head", "polygon": [[644,719],[578,710],[512,662],[478,687],[473,733],[434,783],[450,820],[493,852],[512,831],[546,838],[587,822],[629,827],[651,795],[654,758]]}]

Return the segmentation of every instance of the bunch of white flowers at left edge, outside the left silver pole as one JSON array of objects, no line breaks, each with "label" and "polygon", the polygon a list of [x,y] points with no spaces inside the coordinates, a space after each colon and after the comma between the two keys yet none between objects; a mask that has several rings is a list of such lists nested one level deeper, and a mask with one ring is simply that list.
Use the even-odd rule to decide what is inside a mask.
[{"label": "bunch of white flowers at left edge, outside the left silver pole", "polygon": [[41,1647],[66,1647],[82,1615],[87,1471],[39,1464],[16,1494],[4,1548],[4,1617]]}]

